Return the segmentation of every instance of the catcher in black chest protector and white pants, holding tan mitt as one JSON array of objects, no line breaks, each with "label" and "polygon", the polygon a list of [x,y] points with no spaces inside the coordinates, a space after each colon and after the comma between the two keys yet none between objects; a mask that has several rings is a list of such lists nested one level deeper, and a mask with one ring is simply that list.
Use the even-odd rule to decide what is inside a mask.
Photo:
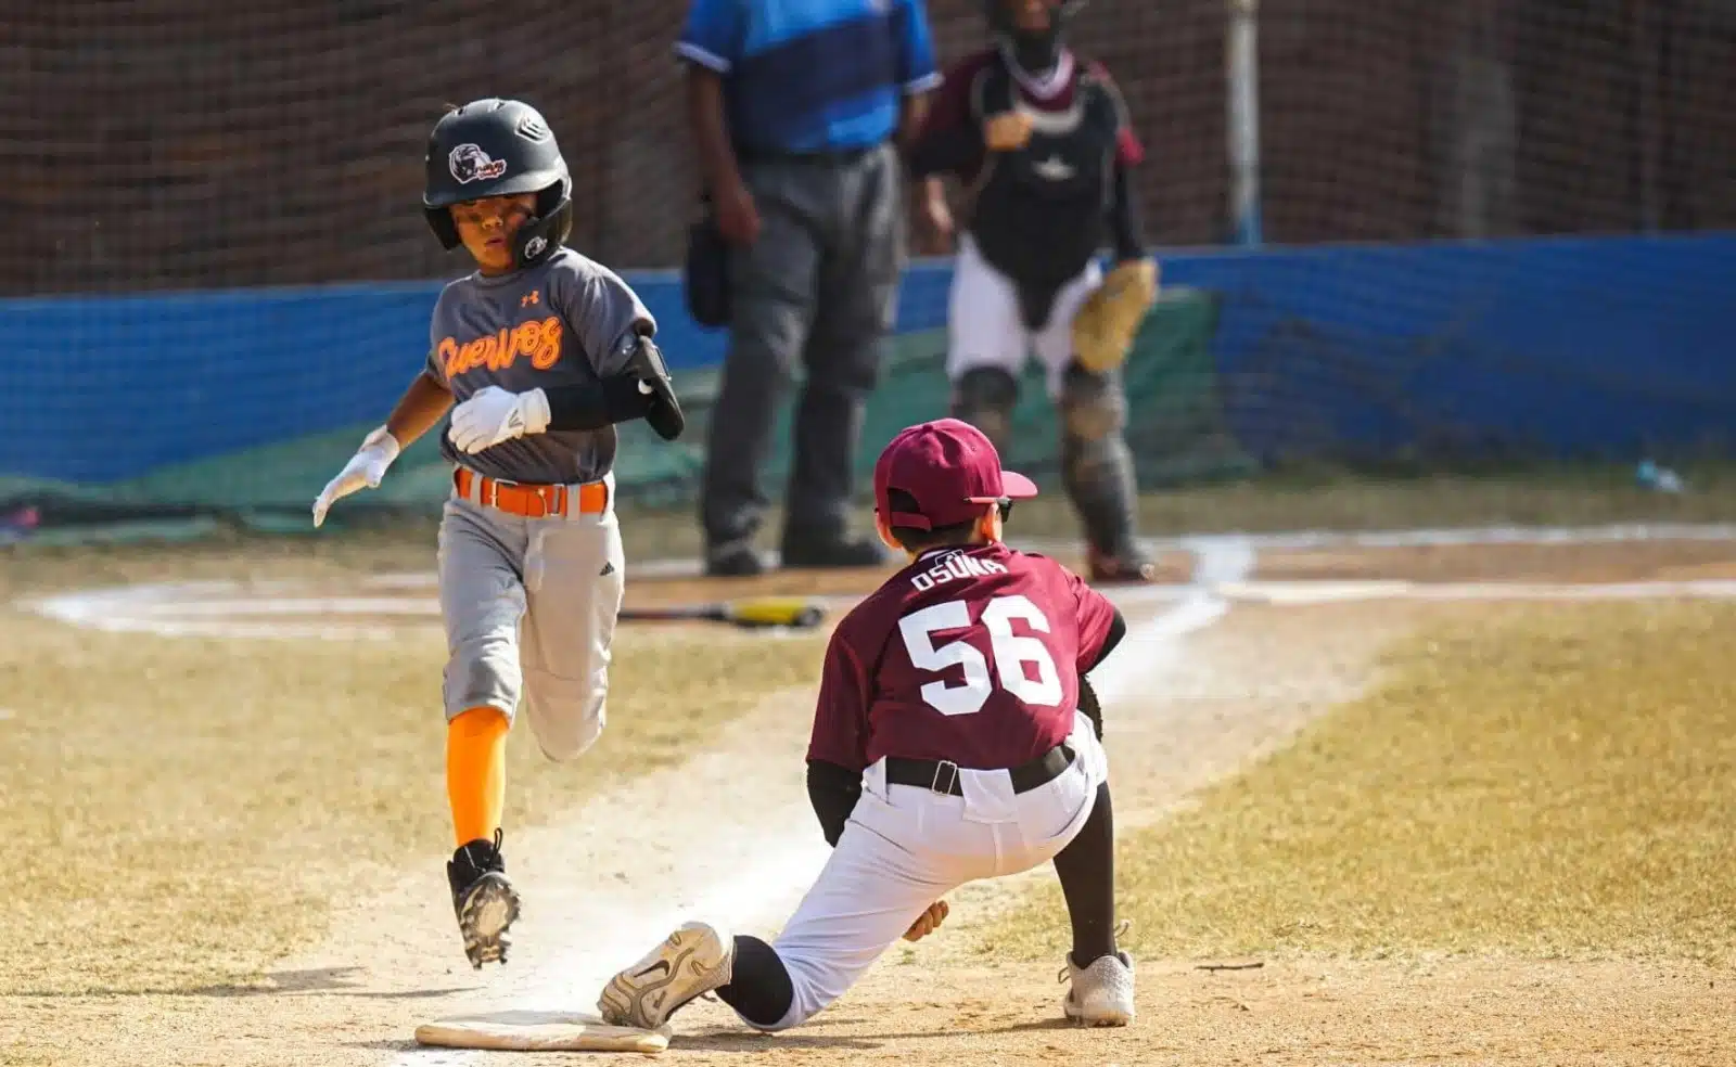
[{"label": "catcher in black chest protector and white pants, holding tan mitt", "polygon": [[[1123,437],[1121,363],[1156,298],[1130,170],[1144,151],[1109,75],[1062,45],[1083,0],[988,0],[996,38],[953,66],[911,149],[970,193],[948,307],[951,413],[1005,451],[1029,349],[1061,413],[1068,496],[1092,581],[1151,581]],[[1104,278],[1097,253],[1115,248]]]}]

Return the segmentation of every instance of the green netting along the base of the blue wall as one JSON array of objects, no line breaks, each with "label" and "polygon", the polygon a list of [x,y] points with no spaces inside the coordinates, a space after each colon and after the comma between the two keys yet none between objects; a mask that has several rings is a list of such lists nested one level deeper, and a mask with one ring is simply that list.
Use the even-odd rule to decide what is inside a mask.
[{"label": "green netting along the base of the blue wall", "polygon": [[[1217,300],[1198,290],[1170,290],[1153,309],[1127,366],[1130,425],[1128,439],[1141,460],[1142,484],[1165,484],[1250,467],[1222,430],[1217,380],[1210,342],[1217,324]],[[866,486],[880,446],[899,429],[946,415],[944,330],[904,333],[892,338],[882,380],[875,390],[863,432],[858,468]],[[681,442],[667,444],[641,423],[621,427],[616,482],[623,498],[651,507],[691,505],[703,467],[707,420],[717,389],[717,371],[679,375],[689,429]],[[793,390],[792,390],[793,397]],[[785,403],[776,429],[776,451],[767,465],[767,488],[774,494],[790,470],[790,420],[793,401]],[[1009,465],[1028,470],[1038,482],[1055,475],[1057,427],[1054,404],[1045,394],[1035,361],[1026,368],[1014,415],[1016,444]],[[319,488],[337,472],[368,425],[286,441],[267,448],[156,470],[146,477],[111,486],[69,486],[9,479],[0,500],[45,501],[59,512],[85,519],[187,519],[189,533],[208,527],[208,515],[227,514],[253,526],[300,529]],[[347,498],[332,512],[332,522],[382,508],[429,510],[450,491],[450,468],[439,458],[437,434],[429,434],[392,467],[373,491]],[[161,526],[149,526],[161,536]]]}]

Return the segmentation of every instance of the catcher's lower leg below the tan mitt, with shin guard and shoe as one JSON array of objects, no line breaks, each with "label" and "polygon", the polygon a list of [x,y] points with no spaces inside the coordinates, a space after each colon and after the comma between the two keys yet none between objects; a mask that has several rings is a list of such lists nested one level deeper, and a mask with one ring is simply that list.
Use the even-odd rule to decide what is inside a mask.
[{"label": "catcher's lower leg below the tan mitt, with shin guard and shoe", "polygon": [[1099,581],[1149,581],[1154,573],[1135,545],[1139,484],[1125,425],[1120,373],[1069,366],[1061,385],[1062,484],[1085,527],[1092,578]]}]

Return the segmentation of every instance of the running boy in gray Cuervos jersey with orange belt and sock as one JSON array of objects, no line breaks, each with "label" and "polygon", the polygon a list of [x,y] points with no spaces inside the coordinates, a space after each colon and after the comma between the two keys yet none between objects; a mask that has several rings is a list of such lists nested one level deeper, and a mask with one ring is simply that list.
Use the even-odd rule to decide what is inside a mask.
[{"label": "running boy in gray Cuervos jersey with orange belt and sock", "polygon": [[457,403],[441,455],[455,465],[439,527],[446,623],[446,864],[472,966],[507,959],[519,895],[502,847],[505,743],[519,697],[538,746],[571,760],[602,732],[621,606],[615,423],[665,439],[682,415],[651,342],[656,321],[608,267],[562,246],[573,182],[528,104],[448,111],[427,144],[424,210],[476,272],[448,285],[424,371],[314,501],[375,488],[399,449]]}]

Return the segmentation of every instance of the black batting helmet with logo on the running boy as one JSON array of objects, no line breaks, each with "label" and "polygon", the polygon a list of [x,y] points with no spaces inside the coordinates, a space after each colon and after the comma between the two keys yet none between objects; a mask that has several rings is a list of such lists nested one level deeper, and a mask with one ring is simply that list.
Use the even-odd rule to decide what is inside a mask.
[{"label": "black batting helmet with logo on the running boy", "polygon": [[573,229],[573,177],[549,123],[521,101],[483,99],[448,111],[429,134],[422,210],[444,248],[458,246],[446,210],[467,200],[535,193],[535,215],[519,227],[517,265],[554,255]]}]

